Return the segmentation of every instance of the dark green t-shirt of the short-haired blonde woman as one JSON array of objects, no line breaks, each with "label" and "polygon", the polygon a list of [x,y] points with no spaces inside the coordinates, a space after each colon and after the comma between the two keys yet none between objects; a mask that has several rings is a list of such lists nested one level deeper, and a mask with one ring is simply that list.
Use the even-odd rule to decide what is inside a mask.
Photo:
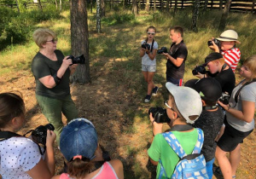
[{"label": "dark green t-shirt of the short-haired blonde woman", "polygon": [[39,81],[39,78],[51,75],[53,76],[61,67],[64,55],[58,49],[55,50],[55,55],[57,56],[58,61],[51,61],[46,56],[38,52],[37,55],[32,60],[32,73],[36,79],[36,94],[43,95],[46,97],[62,99],[66,95],[70,94],[69,87],[69,76],[70,70],[67,68],[63,77],[61,78],[60,84],[56,85],[54,88],[49,89],[44,86]]}]

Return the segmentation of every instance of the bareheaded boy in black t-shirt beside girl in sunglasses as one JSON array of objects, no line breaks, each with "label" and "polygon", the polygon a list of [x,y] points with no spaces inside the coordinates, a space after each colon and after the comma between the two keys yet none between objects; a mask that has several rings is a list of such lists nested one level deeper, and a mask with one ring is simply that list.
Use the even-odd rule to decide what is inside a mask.
[{"label": "bareheaded boy in black t-shirt beside girl in sunglasses", "polygon": [[183,42],[183,28],[173,26],[170,28],[170,38],[172,45],[169,53],[163,53],[166,56],[166,81],[181,86],[185,71],[185,61],[188,55],[188,49]]}]

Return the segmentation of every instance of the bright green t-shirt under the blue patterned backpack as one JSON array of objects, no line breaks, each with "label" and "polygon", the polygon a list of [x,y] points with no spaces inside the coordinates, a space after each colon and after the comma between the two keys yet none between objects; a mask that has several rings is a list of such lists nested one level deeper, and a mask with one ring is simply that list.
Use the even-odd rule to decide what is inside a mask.
[{"label": "bright green t-shirt under the blue patterned backpack", "polygon": [[[198,137],[197,130],[194,129],[189,132],[172,131],[172,133],[174,136],[176,136],[177,141],[180,142],[185,153],[190,154],[193,152]],[[157,134],[154,136],[154,140],[151,146],[148,148],[148,156],[156,162],[161,159],[161,162],[166,170],[167,177],[171,178],[179,158],[172,150],[172,147],[169,146],[162,134]],[[156,171],[156,178],[158,178],[160,174],[160,163],[158,163]],[[166,176],[163,175],[162,178],[166,178]]]}]

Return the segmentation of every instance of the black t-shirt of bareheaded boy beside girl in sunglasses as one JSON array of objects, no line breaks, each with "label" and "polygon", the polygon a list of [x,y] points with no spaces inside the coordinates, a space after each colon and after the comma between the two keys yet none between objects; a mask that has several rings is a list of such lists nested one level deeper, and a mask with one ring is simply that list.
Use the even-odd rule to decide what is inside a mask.
[{"label": "black t-shirt of bareheaded boy beside girl in sunglasses", "polygon": [[174,58],[182,58],[183,63],[181,66],[173,65],[172,61],[167,60],[166,62],[166,76],[169,78],[182,79],[185,72],[185,61],[188,55],[188,49],[186,44],[181,41],[180,43],[172,43],[171,48],[169,50],[169,54]]}]

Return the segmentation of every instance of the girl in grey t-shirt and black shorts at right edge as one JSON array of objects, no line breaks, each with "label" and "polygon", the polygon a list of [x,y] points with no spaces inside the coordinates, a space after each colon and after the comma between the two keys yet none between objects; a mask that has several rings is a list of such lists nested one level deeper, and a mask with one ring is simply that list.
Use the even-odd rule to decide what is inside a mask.
[{"label": "girl in grey t-shirt and black shorts at right edge", "polygon": [[[226,111],[223,136],[218,140],[215,156],[224,178],[236,178],[236,169],[241,158],[241,143],[254,129],[256,103],[256,55],[247,58],[240,69],[244,78],[232,91],[230,103],[218,101]],[[230,160],[226,157],[230,153]],[[215,170],[221,173],[219,168]]]}]

